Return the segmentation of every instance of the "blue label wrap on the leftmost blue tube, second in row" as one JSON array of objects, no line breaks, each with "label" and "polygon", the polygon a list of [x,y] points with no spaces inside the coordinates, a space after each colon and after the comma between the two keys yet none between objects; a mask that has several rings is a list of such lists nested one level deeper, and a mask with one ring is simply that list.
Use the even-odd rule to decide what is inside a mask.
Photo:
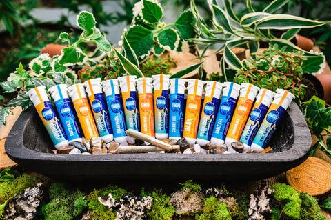
[{"label": "blue label wrap on the leftmost blue tube, second in row", "polygon": [[81,138],[81,132],[79,131],[77,119],[74,117],[69,99],[59,99],[55,101],[55,106],[57,106],[57,111],[68,140]]}]

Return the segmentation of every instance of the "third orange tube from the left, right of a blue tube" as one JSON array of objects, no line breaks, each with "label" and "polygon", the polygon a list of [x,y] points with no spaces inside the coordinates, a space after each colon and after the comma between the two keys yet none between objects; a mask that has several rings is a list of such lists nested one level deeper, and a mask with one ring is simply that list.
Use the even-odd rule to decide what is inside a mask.
[{"label": "third orange tube from the left, right of a blue tube", "polygon": [[189,143],[197,141],[201,95],[204,84],[204,81],[198,79],[188,79],[188,99],[186,99],[183,137]]}]

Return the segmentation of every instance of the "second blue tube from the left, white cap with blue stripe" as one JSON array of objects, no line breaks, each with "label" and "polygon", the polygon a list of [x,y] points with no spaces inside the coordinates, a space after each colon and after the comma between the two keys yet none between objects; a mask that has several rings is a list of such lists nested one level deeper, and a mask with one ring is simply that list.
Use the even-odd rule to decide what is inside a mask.
[{"label": "second blue tube from the left, white cap with blue stripe", "polygon": [[117,79],[108,79],[101,82],[103,92],[106,94],[108,112],[114,132],[114,139],[117,143],[126,141],[126,120],[119,95],[119,82]]}]

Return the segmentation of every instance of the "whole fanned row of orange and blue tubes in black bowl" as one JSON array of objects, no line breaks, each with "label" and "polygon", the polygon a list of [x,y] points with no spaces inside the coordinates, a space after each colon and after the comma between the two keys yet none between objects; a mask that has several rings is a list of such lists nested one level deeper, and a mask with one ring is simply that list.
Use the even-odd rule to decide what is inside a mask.
[{"label": "whole fanned row of orange and blue tubes in black bowl", "polygon": [[139,79],[126,76],[103,82],[91,79],[68,88],[63,84],[53,86],[48,91],[60,120],[45,88],[34,88],[28,95],[55,148],[68,145],[68,141],[82,141],[68,94],[86,139],[100,136],[106,142],[114,139],[122,143],[127,141],[126,129],[132,128],[157,139],[185,137],[200,146],[207,143],[230,146],[232,142],[242,141],[245,150],[259,151],[268,146],[283,113],[294,99],[286,90],[277,89],[275,94],[249,83],[169,78],[162,74]]}]

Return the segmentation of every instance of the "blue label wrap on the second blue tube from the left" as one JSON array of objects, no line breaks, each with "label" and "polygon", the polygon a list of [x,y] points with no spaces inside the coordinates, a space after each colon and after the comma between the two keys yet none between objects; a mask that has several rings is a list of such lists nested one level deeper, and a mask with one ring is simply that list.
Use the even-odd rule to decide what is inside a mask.
[{"label": "blue label wrap on the second blue tube from the left", "polygon": [[114,137],[126,136],[126,121],[122,110],[121,97],[119,94],[108,95],[106,96],[106,101]]}]

